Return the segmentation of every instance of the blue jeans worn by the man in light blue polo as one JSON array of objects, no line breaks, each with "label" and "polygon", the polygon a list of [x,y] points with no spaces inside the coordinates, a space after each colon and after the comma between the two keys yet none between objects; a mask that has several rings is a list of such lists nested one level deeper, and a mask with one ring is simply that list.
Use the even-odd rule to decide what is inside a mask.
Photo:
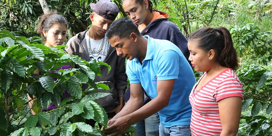
[{"label": "blue jeans worn by the man in light blue polo", "polygon": [[159,126],[160,136],[190,136],[190,125],[176,125],[173,127],[164,127],[161,123]]}]

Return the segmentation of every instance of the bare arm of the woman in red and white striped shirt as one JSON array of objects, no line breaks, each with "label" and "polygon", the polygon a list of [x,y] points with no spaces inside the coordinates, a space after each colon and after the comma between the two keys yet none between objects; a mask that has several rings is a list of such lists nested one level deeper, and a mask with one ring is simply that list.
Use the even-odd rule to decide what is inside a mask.
[{"label": "bare arm of the woman in red and white striped shirt", "polygon": [[220,136],[235,136],[238,133],[242,99],[241,97],[228,97],[218,102],[219,116],[222,123]]}]

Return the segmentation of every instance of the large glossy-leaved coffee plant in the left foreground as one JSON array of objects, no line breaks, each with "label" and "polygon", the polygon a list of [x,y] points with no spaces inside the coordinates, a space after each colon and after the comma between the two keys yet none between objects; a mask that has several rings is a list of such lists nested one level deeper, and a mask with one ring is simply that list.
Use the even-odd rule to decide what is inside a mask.
[{"label": "large glossy-leaved coffee plant in the left foreground", "polygon": [[[86,95],[81,88],[83,83],[92,83],[89,89],[92,86],[108,89],[103,82],[93,82],[96,74],[101,73],[92,66],[99,64],[67,54],[63,50],[65,46],[49,48],[39,44],[37,38],[28,39],[0,31],[1,135],[101,135],[85,123],[76,120],[70,123],[74,116],[81,116],[107,125],[105,110],[94,100],[109,93]],[[73,63],[81,68],[60,69],[63,65],[72,66]],[[106,63],[101,64],[110,70]],[[34,74],[35,70],[39,70],[40,74]],[[65,98],[66,89],[71,97]],[[31,100],[27,99],[26,94],[31,100],[35,99],[32,108],[28,106]],[[47,111],[51,102],[57,108]],[[37,115],[30,115],[31,109]]]}]

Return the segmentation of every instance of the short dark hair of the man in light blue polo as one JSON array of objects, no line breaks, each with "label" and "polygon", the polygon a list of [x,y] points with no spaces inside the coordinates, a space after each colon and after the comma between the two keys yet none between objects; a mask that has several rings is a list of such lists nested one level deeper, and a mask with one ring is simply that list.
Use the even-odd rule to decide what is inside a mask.
[{"label": "short dark hair of the man in light blue polo", "polygon": [[119,38],[129,38],[131,33],[141,35],[138,26],[129,18],[122,17],[114,21],[106,32],[106,38],[118,36]]}]

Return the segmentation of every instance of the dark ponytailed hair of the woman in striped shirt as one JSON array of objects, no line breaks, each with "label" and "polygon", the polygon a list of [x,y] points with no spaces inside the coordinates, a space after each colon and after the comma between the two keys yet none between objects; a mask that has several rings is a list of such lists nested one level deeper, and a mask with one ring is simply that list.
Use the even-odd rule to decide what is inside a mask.
[{"label": "dark ponytailed hair of the woman in striped shirt", "polygon": [[236,70],[237,53],[233,47],[232,36],[224,27],[204,27],[194,31],[189,40],[196,42],[204,51],[215,50],[215,59],[221,65]]}]

